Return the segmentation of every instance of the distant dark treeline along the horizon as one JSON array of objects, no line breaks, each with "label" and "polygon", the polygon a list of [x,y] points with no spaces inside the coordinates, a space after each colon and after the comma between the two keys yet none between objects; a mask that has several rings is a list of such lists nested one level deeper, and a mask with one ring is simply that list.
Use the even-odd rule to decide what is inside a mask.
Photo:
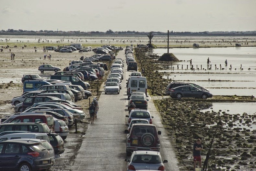
[{"label": "distant dark treeline along the horizon", "polygon": [[[160,32],[160,31],[152,31],[153,35],[156,36],[167,36],[167,32]],[[122,36],[146,36],[149,32],[139,32],[139,31],[112,31],[107,30],[106,32],[102,31],[90,31],[90,32],[83,32],[83,31],[53,31],[53,30],[1,30],[0,34],[2,35],[52,35],[52,36],[98,36],[98,35],[122,35]],[[170,36],[256,36],[256,31],[203,31],[203,32],[178,32],[178,31],[170,31]]]}]

